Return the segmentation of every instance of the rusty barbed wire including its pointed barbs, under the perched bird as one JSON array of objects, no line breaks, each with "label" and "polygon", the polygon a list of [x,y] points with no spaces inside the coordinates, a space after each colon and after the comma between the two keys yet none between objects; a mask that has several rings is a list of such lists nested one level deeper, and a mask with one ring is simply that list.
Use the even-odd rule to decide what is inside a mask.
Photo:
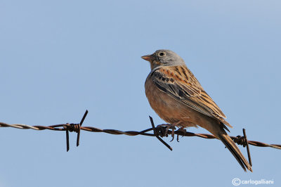
[{"label": "rusty barbed wire including its pointed barbs, under the perched bird", "polygon": [[[127,136],[137,136],[137,135],[143,135],[143,136],[155,136],[159,141],[161,141],[162,143],[164,143],[164,145],[169,148],[170,150],[172,150],[171,146],[169,146],[166,142],[164,142],[162,140],[162,138],[159,137],[162,136],[163,131],[166,131],[166,127],[155,127],[154,122],[152,120],[152,117],[150,117],[150,122],[152,125],[152,128],[149,129],[145,129],[143,131],[119,131],[119,130],[115,130],[115,129],[98,129],[96,127],[81,127],[81,125],[83,124],[85,117],[88,113],[88,110],[86,110],[84,117],[82,118],[81,122],[79,124],[55,124],[55,125],[50,125],[50,126],[39,126],[39,125],[34,125],[34,126],[30,126],[27,124],[6,124],[4,122],[0,122],[0,127],[12,127],[12,128],[17,128],[17,129],[34,129],[34,130],[53,130],[53,131],[66,131],[66,139],[67,139],[67,151],[69,150],[69,133],[68,131],[75,131],[77,132],[77,146],[79,146],[79,137],[80,137],[80,131],[91,131],[91,132],[103,132],[103,133],[107,133],[107,134],[124,134]],[[153,133],[149,133],[150,131],[152,131]],[[160,132],[160,133],[159,133]],[[171,134],[172,131],[168,130],[167,134]],[[180,136],[197,136],[200,138],[208,138],[208,139],[213,139],[216,138],[214,135],[212,134],[195,134],[189,131],[174,131],[174,134],[180,135]],[[246,136],[246,132],[244,132],[243,130],[243,134],[244,136],[230,136],[230,138],[233,139],[233,141],[235,141],[235,143],[241,145],[241,146],[247,146],[247,152],[248,152],[248,156],[249,156],[249,162],[251,162],[251,158],[250,158],[250,154],[249,154],[249,145],[251,146],[259,146],[259,147],[270,147],[270,148],[277,148],[277,149],[281,149],[281,145],[280,144],[268,144],[268,143],[262,143],[259,141],[247,141],[247,136]]]}]

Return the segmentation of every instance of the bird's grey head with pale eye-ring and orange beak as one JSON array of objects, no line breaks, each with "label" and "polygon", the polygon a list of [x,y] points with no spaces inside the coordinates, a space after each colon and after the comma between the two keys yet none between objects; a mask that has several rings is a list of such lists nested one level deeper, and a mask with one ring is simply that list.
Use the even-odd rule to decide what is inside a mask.
[{"label": "bird's grey head with pale eye-ring and orange beak", "polygon": [[178,56],[178,54],[174,51],[167,49],[157,50],[155,53],[142,56],[141,58],[150,62],[151,70],[155,69],[155,67],[161,66],[185,65],[185,62],[181,56]]}]

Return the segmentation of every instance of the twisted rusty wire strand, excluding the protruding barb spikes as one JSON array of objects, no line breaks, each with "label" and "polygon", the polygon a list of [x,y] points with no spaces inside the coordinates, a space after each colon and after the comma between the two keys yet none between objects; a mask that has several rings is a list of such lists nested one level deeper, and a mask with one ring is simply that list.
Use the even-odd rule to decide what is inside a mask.
[{"label": "twisted rusty wire strand, excluding the protruding barb spikes", "polygon": [[[73,126],[75,124],[55,124],[51,126],[39,126],[39,125],[27,125],[27,124],[7,124],[4,122],[0,122],[0,127],[12,127],[12,128],[17,128],[17,129],[33,129],[33,130],[52,130],[52,131],[66,131],[67,129],[70,131],[75,131],[73,130]],[[156,127],[157,129],[157,127]],[[143,135],[143,136],[157,136],[155,134],[148,133],[149,131],[153,132],[153,128],[145,129],[143,131],[120,131],[120,130],[115,130],[115,129],[98,129],[96,127],[80,127],[80,130],[83,131],[91,131],[91,132],[103,132],[107,134],[124,134],[127,136],[137,136],[137,135]],[[168,131],[168,134],[171,134],[171,130]],[[212,134],[195,134],[189,131],[183,132],[183,131],[175,131],[174,134],[180,135],[180,136],[197,136],[200,138],[207,138],[207,139],[213,139],[216,138]],[[241,136],[230,136],[230,138],[233,139],[236,143],[245,146],[245,143],[242,141],[240,142]],[[259,146],[259,147],[270,147],[270,148],[276,148],[276,149],[281,149],[280,144],[268,144],[268,143],[262,143],[259,141],[248,141],[249,145],[252,146]]]}]

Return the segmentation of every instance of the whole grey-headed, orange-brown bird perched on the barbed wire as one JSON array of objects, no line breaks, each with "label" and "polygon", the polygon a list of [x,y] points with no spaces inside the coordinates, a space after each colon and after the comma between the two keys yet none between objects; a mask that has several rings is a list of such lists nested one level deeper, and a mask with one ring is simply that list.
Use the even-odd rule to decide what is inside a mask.
[{"label": "whole grey-headed, orange-brown bird perched on the barbed wire", "polygon": [[150,62],[151,69],[145,80],[145,95],[157,115],[170,124],[168,129],[197,126],[207,129],[223,142],[245,172],[247,169],[252,172],[251,165],[226,133],[229,131],[226,126],[232,127],[226,115],[204,91],[183,58],[166,49],[141,58]]}]

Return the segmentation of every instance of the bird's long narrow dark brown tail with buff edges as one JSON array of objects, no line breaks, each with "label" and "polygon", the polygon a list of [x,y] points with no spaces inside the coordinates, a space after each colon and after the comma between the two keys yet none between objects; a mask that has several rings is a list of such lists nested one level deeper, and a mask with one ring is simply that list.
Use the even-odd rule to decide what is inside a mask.
[{"label": "bird's long narrow dark brown tail with buff edges", "polygon": [[246,160],[246,158],[242,155],[239,148],[236,146],[234,141],[228,136],[228,134],[219,134],[218,138],[223,142],[223,144],[230,150],[230,153],[233,154],[233,156],[236,158],[236,160],[239,162],[241,167],[244,169],[245,172],[247,172],[246,168],[249,169],[249,171],[253,172],[251,169],[251,165]]}]

